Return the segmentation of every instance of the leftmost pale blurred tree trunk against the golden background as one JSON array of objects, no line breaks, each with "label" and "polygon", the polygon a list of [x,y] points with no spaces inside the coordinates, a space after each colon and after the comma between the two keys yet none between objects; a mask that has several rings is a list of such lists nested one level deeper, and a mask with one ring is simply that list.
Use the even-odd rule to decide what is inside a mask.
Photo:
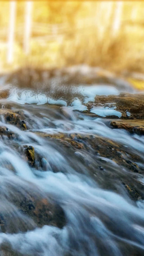
[{"label": "leftmost pale blurred tree trunk against the golden background", "polygon": [[15,25],[16,1],[10,1],[10,23],[8,32],[7,62],[13,61],[14,25]]}]

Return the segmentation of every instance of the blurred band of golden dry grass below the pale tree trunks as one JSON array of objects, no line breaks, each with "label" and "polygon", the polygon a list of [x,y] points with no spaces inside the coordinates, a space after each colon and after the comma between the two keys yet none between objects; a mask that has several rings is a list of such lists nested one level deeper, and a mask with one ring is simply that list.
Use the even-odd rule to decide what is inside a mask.
[{"label": "blurred band of golden dry grass below the pale tree trunks", "polygon": [[107,30],[102,39],[94,27],[81,32],[73,31],[71,36],[68,35],[61,42],[33,42],[31,54],[27,57],[21,47],[16,45],[12,65],[6,63],[5,51],[0,51],[1,66],[9,71],[21,67],[49,69],[88,64],[114,72],[144,72],[144,35],[139,27],[136,33],[131,30],[127,33],[126,29],[121,29],[115,37]]}]

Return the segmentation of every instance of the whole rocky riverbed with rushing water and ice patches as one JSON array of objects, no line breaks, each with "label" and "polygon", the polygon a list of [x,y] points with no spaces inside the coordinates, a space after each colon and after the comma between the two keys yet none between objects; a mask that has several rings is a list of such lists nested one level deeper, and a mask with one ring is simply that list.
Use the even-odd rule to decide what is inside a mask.
[{"label": "whole rocky riverbed with rushing water and ice patches", "polygon": [[1,88],[1,255],[144,255],[144,94],[96,86]]}]

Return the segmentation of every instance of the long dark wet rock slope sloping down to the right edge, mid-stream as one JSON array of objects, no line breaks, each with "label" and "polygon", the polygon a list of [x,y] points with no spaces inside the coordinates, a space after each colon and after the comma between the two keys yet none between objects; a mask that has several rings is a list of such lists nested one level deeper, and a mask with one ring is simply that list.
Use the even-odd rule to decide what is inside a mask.
[{"label": "long dark wet rock slope sloping down to the right edge, mid-stream", "polygon": [[[138,191],[139,196],[135,200],[144,197],[142,192],[144,189],[141,188],[141,184],[136,180],[138,175],[144,173],[144,160],[141,154],[135,154],[131,147],[128,148],[118,142],[94,134],[40,134],[51,140],[52,143],[57,143],[60,147],[63,146],[64,152],[65,147],[67,147],[66,156],[70,157],[72,161],[77,159],[78,163],[81,161],[84,164],[84,168],[86,166],[88,169],[89,175],[105,189],[113,190],[120,194],[123,193],[122,184],[126,183],[130,186],[133,185],[133,189]],[[83,158],[80,154],[82,152]],[[75,155],[77,159],[73,158]],[[52,167],[52,171],[54,169]],[[77,171],[83,173],[84,169]]]}]

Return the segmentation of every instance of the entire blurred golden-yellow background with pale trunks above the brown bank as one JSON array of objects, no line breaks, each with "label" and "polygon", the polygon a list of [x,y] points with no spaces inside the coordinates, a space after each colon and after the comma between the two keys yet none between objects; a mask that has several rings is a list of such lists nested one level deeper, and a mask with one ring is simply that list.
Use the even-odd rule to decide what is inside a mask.
[{"label": "entire blurred golden-yellow background with pale trunks above the brown bank", "polygon": [[144,71],[143,1],[0,1],[0,73],[86,64]]}]

